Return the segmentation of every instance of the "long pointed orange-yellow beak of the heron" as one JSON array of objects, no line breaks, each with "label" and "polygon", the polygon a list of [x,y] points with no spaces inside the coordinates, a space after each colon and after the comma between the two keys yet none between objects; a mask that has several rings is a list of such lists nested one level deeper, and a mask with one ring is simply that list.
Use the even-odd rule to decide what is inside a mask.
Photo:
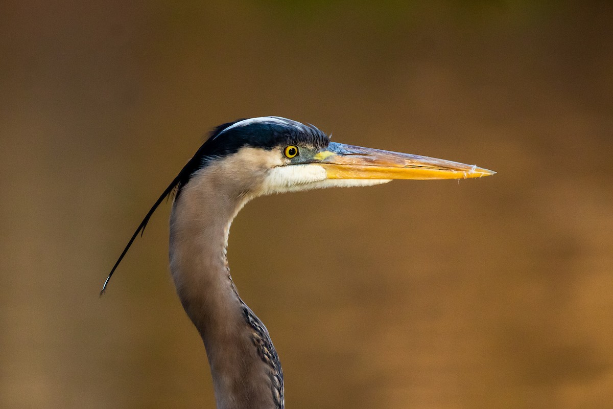
[{"label": "long pointed orange-yellow beak of the heron", "polygon": [[313,157],[329,179],[466,179],[495,174],[476,165],[331,142]]}]

